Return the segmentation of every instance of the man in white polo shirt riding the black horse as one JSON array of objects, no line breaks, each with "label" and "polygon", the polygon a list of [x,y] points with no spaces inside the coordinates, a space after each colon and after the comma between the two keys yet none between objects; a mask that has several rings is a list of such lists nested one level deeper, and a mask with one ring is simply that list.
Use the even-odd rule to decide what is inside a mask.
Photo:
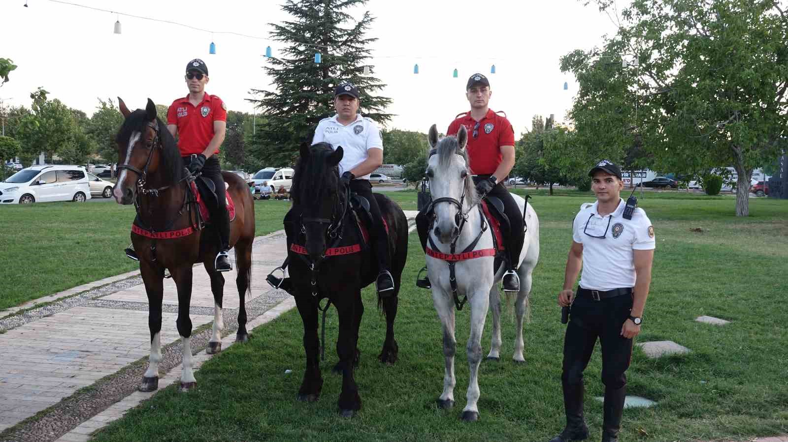
[{"label": "man in white polo shirt riding the black horse", "polygon": [[[324,118],[314,130],[312,144],[327,142],[333,149],[342,146],[344,155],[340,160],[340,182],[370,202],[370,244],[377,257],[377,293],[388,297],[394,293],[394,278],[389,271],[388,234],[383,224],[381,209],[372,193],[370,173],[383,164],[383,140],[374,120],[361,116],[359,112],[359,89],[351,83],[340,83],[334,90],[336,115]],[[292,210],[284,216],[284,229],[288,235],[288,249],[293,238],[292,219],[297,216]],[[287,289],[288,278],[281,281],[269,276],[269,282]]]}]

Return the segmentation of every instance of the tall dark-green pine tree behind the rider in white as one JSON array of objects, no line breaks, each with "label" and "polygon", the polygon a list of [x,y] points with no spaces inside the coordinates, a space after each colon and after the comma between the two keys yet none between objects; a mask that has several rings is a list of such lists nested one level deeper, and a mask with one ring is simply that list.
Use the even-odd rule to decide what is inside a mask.
[{"label": "tall dark-green pine tree behind the rider in white", "polygon": [[[251,90],[257,98],[250,101],[264,118],[250,150],[266,164],[292,164],[300,143],[311,142],[318,122],[335,113],[333,90],[341,82],[359,87],[362,115],[379,124],[391,119],[385,113],[391,99],[373,94],[385,84],[362,75],[370,58],[367,46],[377,40],[364,36],[374,17],[367,11],[354,20],[345,12],[364,4],[366,0],[288,0],[282,6],[294,20],[271,24],[271,38],[287,44],[277,50],[281,57],[268,58],[265,67],[276,90]],[[320,64],[314,63],[314,53],[321,54]]]}]

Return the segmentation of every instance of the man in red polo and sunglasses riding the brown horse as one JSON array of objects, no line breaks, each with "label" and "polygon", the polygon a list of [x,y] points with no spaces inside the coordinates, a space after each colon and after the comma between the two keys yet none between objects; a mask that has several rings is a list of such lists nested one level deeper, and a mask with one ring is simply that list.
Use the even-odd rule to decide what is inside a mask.
[{"label": "man in red polo and sunglasses riding the brown horse", "polygon": [[186,86],[189,94],[177,98],[167,111],[167,129],[178,138],[180,156],[192,174],[203,171],[203,176],[214,182],[217,201],[206,200],[210,219],[219,236],[219,253],[214,260],[217,271],[231,271],[227,256],[230,249],[230,219],[225,198],[225,180],[221,178],[219,146],[225,141],[227,105],[216,95],[206,94],[208,67],[195,58],[186,65]]}]

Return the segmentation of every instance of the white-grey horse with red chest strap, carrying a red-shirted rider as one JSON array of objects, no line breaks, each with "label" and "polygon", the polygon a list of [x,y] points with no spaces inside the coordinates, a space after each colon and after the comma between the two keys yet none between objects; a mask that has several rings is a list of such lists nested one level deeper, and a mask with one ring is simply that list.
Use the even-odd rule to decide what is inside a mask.
[{"label": "white-grey horse with red chest strap, carrying a red-shirted rider", "polygon": [[[492,344],[487,359],[500,359],[498,285],[503,277],[505,266],[501,265],[496,273],[495,257],[484,252],[493,247],[492,229],[486,226],[478,208],[478,197],[471,179],[465,150],[467,140],[468,134],[463,126],[459,128],[456,137],[445,137],[440,141],[435,125],[429,128],[429,146],[433,150],[430,151],[426,174],[429,178],[429,191],[433,197],[434,220],[429,229],[428,248],[434,245],[439,250],[430,252],[428,249],[426,260],[429,280],[432,284],[433,303],[443,325],[444,388],[437,403],[441,408],[454,406],[455,298],[467,297],[470,304],[470,337],[467,344],[470,381],[466,396],[467,403],[463,409],[463,421],[476,421],[479,418],[477,402],[481,333],[485,328],[490,305],[492,305]],[[518,195],[512,197],[515,198],[522,212],[526,201]],[[522,322],[529,316],[531,273],[539,259],[539,219],[530,204],[527,205],[525,213],[526,239],[519,256],[520,265],[517,273],[520,278],[520,291],[515,300],[517,320],[517,340],[513,355],[515,363],[525,362],[522,356]],[[485,228],[482,228],[483,225]],[[477,241],[475,245],[473,245],[474,241]],[[461,252],[470,252],[466,250],[469,247],[476,253],[451,256],[453,253],[459,255]],[[461,260],[462,258],[465,259]],[[450,264],[455,267],[454,281],[451,280]],[[452,285],[455,286],[456,291],[452,290]]]}]

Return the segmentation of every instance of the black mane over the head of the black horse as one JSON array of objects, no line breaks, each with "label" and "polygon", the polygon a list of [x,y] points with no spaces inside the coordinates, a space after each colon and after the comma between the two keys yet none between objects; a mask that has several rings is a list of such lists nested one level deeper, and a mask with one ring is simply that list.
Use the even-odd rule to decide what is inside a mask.
[{"label": "black mane over the head of the black horse", "polygon": [[326,158],[334,152],[332,146],[327,142],[319,142],[309,149],[310,156],[299,158],[293,172],[290,188],[293,204],[316,205],[339,183],[337,168],[326,167]]}]

